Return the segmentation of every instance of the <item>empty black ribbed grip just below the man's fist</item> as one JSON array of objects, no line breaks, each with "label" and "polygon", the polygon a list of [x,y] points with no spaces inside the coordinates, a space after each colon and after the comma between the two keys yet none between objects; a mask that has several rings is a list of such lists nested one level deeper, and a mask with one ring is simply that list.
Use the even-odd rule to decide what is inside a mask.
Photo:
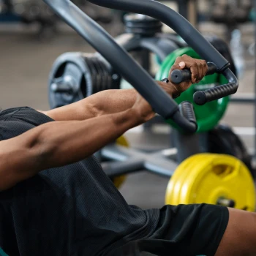
[{"label": "empty black ribbed grip just below the man's fist", "polygon": [[230,94],[236,94],[238,86],[235,83],[227,83],[222,86],[216,86],[206,91],[197,91],[194,94],[194,102],[197,105],[204,105],[207,102],[211,102],[216,99],[229,96]]}]

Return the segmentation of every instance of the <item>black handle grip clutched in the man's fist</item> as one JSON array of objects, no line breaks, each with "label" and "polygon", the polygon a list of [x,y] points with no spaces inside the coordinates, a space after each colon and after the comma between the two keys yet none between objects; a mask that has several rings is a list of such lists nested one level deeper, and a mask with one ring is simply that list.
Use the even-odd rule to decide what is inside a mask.
[{"label": "black handle grip clutched in the man's fist", "polygon": [[[212,75],[217,72],[217,67],[214,63],[208,62],[207,65],[208,65],[208,71],[207,71],[206,75]],[[182,83],[184,81],[191,80],[191,75],[192,74],[189,69],[183,69],[183,70],[175,69],[170,74],[170,80],[173,83],[178,84],[178,83]]]}]

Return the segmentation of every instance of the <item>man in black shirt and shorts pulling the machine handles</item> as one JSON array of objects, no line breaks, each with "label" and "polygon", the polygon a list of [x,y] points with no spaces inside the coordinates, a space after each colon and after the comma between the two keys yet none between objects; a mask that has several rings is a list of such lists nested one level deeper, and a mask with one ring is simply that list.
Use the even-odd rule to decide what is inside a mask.
[{"label": "man in black shirt and shorts pulling the machine handles", "polygon": [[[206,75],[161,83],[175,97]],[[155,116],[135,90],[102,91],[42,112],[0,113],[0,247],[8,255],[256,255],[255,214],[221,206],[129,206],[99,163],[99,148]]]}]

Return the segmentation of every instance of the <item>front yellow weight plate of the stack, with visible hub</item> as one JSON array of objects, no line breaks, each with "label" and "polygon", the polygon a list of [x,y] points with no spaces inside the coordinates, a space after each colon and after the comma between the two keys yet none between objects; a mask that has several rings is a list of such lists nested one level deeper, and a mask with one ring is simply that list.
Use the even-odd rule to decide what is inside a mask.
[{"label": "front yellow weight plate of the stack, with visible hub", "polygon": [[[238,159],[205,154],[205,159],[187,176],[188,187],[182,201],[216,204],[220,198],[233,200],[236,208],[254,211],[255,187],[252,176]],[[203,170],[203,171],[202,171]],[[189,180],[195,181],[193,184]],[[218,186],[216,186],[218,184]]]}]

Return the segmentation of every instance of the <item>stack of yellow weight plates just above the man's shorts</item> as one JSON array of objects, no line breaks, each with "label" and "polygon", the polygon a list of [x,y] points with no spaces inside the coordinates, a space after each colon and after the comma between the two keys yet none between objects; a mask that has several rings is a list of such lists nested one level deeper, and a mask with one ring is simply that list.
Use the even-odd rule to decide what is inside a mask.
[{"label": "stack of yellow weight plates just above the man's shorts", "polygon": [[235,203],[255,211],[255,184],[246,165],[225,154],[197,154],[178,166],[167,186],[167,204]]}]

